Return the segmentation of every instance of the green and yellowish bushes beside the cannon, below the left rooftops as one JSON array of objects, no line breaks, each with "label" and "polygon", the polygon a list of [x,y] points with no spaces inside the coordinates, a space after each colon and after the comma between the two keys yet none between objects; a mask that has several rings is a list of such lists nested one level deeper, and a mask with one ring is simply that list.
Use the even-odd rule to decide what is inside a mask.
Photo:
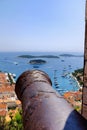
[{"label": "green and yellowish bushes beside the cannon, below the left rooftops", "polygon": [[0,130],[23,130],[22,110],[18,109],[15,114],[9,112],[9,121],[0,117]]}]

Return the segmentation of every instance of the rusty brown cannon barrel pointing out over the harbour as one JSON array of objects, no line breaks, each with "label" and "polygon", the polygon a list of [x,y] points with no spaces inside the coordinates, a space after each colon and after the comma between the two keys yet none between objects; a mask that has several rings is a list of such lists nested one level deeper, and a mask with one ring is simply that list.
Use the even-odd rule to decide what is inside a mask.
[{"label": "rusty brown cannon barrel pointing out over the harbour", "polygon": [[15,91],[22,102],[24,130],[87,130],[87,121],[52,88],[43,71],[24,72]]}]

